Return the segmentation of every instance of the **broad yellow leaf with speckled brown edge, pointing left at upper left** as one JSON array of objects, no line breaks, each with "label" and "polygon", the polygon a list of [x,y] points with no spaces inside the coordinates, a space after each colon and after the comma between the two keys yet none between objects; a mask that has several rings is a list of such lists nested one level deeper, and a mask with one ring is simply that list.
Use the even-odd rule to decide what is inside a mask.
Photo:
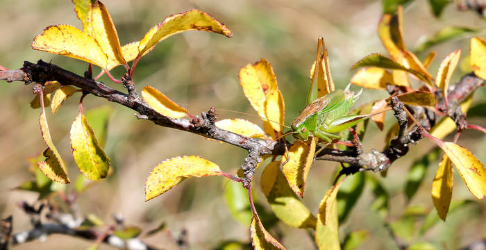
[{"label": "broad yellow leaf with speckled brown edge, pointing left at upper left", "polygon": [[31,46],[32,49],[84,60],[102,68],[108,61],[94,38],[66,24],[47,27],[42,35],[35,36]]}]

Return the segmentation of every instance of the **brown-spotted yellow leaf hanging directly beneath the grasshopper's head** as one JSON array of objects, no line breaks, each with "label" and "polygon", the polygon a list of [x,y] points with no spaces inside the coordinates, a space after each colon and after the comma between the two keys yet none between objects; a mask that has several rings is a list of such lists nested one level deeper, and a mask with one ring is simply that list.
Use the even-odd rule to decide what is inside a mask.
[{"label": "brown-spotted yellow leaf hanging directly beneath the grasshopper's head", "polygon": [[316,140],[311,137],[305,142],[296,140],[289,151],[282,156],[282,164],[287,162],[285,165],[282,165],[283,175],[287,179],[290,188],[299,197],[303,197],[305,181],[307,181],[310,166],[314,161],[315,150]]}]

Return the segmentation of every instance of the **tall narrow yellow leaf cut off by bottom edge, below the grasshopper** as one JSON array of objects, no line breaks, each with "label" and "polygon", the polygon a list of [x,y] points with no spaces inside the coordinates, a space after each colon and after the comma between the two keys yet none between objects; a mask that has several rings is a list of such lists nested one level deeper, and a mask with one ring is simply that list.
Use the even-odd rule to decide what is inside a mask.
[{"label": "tall narrow yellow leaf cut off by bottom edge, below the grasshopper", "polygon": [[343,181],[333,185],[319,204],[315,242],[319,249],[340,249],[336,194]]}]

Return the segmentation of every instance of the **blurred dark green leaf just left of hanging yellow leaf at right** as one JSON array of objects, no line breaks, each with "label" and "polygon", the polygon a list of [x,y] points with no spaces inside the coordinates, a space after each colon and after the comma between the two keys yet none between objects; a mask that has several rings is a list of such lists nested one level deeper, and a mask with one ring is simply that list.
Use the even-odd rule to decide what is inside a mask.
[{"label": "blurred dark green leaf just left of hanging yellow leaf at right", "polygon": [[414,197],[427,172],[428,166],[439,158],[439,147],[432,149],[420,160],[416,160],[408,170],[407,182],[405,183],[405,196],[408,201]]}]

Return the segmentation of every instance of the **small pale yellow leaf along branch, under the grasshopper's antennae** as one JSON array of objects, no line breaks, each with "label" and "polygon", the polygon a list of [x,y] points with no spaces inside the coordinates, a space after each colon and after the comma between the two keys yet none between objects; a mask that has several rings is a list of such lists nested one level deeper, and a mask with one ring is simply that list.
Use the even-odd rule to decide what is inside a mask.
[{"label": "small pale yellow leaf along branch, under the grasshopper's antennae", "polygon": [[246,121],[244,119],[222,119],[216,122],[218,128],[223,128],[227,131],[244,135],[251,138],[268,139],[265,132],[257,124]]}]

